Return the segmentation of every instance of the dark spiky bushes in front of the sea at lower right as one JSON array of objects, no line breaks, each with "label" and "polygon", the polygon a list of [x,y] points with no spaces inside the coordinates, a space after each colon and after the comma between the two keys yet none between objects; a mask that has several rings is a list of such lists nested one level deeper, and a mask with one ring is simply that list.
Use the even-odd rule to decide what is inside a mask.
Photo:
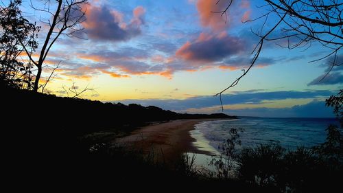
[{"label": "dark spiky bushes in front of the sea at lower right", "polygon": [[[213,159],[213,175],[239,179],[272,192],[341,192],[343,137],[337,126],[327,128],[327,141],[311,148],[286,150],[279,144],[240,146],[239,130],[220,147],[222,155]],[[239,150],[238,150],[239,149]]]}]

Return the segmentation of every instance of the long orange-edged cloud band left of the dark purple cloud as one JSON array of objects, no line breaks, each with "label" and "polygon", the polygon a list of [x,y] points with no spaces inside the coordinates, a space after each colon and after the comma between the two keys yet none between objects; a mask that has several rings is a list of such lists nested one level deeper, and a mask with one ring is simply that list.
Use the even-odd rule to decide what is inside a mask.
[{"label": "long orange-edged cloud band left of the dark purple cloud", "polygon": [[[121,47],[115,51],[94,49],[89,52],[82,52],[75,55],[79,59],[84,60],[85,63],[88,63],[88,66],[91,66],[92,63],[102,63],[106,64],[110,71],[115,71],[121,75],[126,74],[128,76],[158,75],[172,78],[176,71],[198,71],[218,66],[218,64],[215,63],[206,63],[206,65],[200,63],[189,64],[182,58],[166,56],[165,54],[152,54],[152,52],[148,52],[148,50],[149,49],[138,49],[135,47]],[[93,70],[93,68],[91,70]],[[124,76],[113,77],[117,78]]]}]

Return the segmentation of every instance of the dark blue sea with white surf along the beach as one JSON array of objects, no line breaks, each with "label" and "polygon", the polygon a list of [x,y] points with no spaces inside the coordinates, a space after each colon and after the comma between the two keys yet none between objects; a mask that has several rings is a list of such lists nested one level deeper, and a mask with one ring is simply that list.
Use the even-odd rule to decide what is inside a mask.
[{"label": "dark blue sea with white surf along the beach", "polygon": [[[218,147],[230,137],[231,128],[240,128],[238,148],[254,147],[259,144],[279,144],[283,148],[294,150],[299,146],[310,148],[322,144],[327,137],[330,124],[340,125],[333,118],[264,118],[239,117],[234,120],[214,120],[200,122],[191,130],[196,139],[193,145],[200,150],[219,155]],[[198,165],[206,165],[209,155],[196,155]]]}]

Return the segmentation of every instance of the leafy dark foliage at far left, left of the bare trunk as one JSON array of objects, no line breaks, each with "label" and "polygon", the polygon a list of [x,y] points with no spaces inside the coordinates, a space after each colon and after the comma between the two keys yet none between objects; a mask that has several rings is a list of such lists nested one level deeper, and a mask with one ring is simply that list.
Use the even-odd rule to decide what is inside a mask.
[{"label": "leafy dark foliage at far left, left of the bare trunk", "polygon": [[25,62],[23,46],[32,54],[38,47],[36,33],[40,27],[21,14],[20,0],[11,0],[0,8],[0,82],[10,87],[32,89],[32,63]]}]

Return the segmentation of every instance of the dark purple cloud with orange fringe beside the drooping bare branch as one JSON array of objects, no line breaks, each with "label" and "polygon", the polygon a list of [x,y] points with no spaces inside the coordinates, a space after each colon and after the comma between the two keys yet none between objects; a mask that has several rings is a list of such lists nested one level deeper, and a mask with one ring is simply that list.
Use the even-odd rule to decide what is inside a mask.
[{"label": "dark purple cloud with orange fringe beside the drooping bare branch", "polygon": [[[219,67],[220,69],[243,69],[250,65],[252,43],[250,34],[228,36],[225,32],[217,35],[201,33],[194,41],[187,41],[176,51],[176,58],[188,63],[193,70]],[[284,58],[259,57],[255,67],[266,67]],[[191,63],[189,63],[191,62]]]}]

